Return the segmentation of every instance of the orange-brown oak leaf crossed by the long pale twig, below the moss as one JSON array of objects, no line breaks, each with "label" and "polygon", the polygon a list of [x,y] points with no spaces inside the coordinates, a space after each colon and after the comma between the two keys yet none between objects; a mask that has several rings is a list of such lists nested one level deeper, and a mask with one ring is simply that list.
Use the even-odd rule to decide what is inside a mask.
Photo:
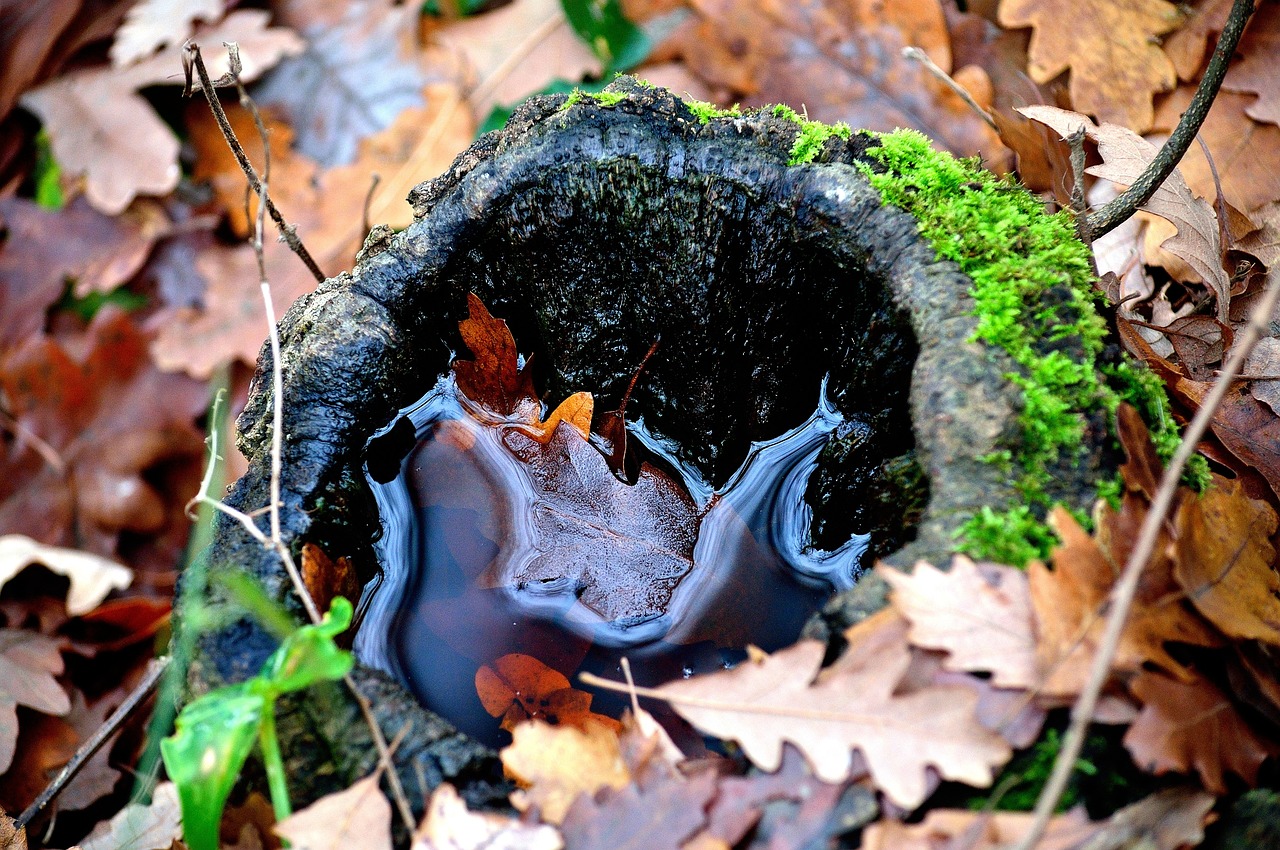
[{"label": "orange-brown oak leaf crossed by the long pale twig, below the moss", "polygon": [[[1101,522],[1107,522],[1110,516],[1103,511]],[[1062,540],[1053,550],[1053,570],[1039,562],[1027,568],[1044,676],[1041,691],[1051,696],[1075,696],[1088,681],[1106,627],[1105,603],[1124,561],[1105,552],[1065,508],[1057,507],[1050,513],[1050,525]],[[1117,545],[1132,547],[1135,535],[1111,539]],[[1171,593],[1169,558],[1160,554],[1164,548],[1157,545],[1157,554],[1147,568],[1120,634],[1112,668],[1137,672],[1143,663],[1151,662],[1187,678],[1190,675],[1169,654],[1165,643],[1212,646],[1217,640],[1202,621],[1181,607],[1180,594]],[[1121,550],[1121,554],[1126,553]]]}]

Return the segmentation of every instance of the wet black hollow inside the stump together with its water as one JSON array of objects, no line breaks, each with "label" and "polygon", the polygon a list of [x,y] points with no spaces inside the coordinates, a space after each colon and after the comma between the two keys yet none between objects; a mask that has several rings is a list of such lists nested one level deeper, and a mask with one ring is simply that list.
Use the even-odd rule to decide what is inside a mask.
[{"label": "wet black hollow inside the stump together with its water", "polygon": [[[428,413],[419,405],[416,419],[388,425],[367,452],[383,512],[384,576],[357,649],[366,646],[366,661],[389,667],[463,731],[497,742],[497,721],[467,716],[479,707],[475,670],[495,653],[532,654],[571,677],[582,668],[616,675],[626,654],[640,659],[639,681],[657,682],[733,663],[748,643],[776,649],[794,641],[838,582],[794,570],[787,577],[797,556],[780,550],[780,517],[800,522],[801,549],[837,550],[865,535],[868,565],[911,539],[928,498],[908,410],[915,341],[883,282],[867,271],[865,255],[835,228],[815,227],[818,214],[796,204],[796,170],[774,173],[772,182],[746,186],[707,174],[673,179],[630,160],[567,164],[508,187],[435,283],[438,298],[426,302],[429,328],[420,338],[442,344],[422,353],[417,393],[447,371],[451,349],[468,357],[457,323],[466,293],[475,292],[532,355],[550,406],[589,390],[598,413],[613,410],[660,339],[627,420],[640,424],[641,453],[703,498],[732,489],[749,456],[756,467],[774,467],[756,476],[754,494],[740,495],[755,513],[742,517],[737,543],[721,547],[754,554],[716,556],[705,572],[723,577],[735,559],[755,562],[755,572],[732,580],[749,590],[739,602],[777,608],[777,616],[758,627],[707,630],[691,618],[732,620],[731,598],[681,599],[676,631],[692,635],[687,641],[671,643],[669,623],[654,631],[653,618],[648,631],[644,622],[628,623],[645,635],[630,640],[618,638],[617,623],[608,636],[600,623],[591,626],[596,631],[568,623],[567,597],[566,605],[540,608],[521,603],[524,589],[467,597],[467,584],[475,586],[506,541],[507,497],[493,486],[503,475],[463,470],[442,448],[438,426],[451,415],[439,407]],[[804,428],[823,387],[831,426],[813,442]],[[763,462],[753,454],[753,444],[786,434],[809,440],[803,461],[795,453],[782,460],[786,452]],[[800,485],[782,499],[790,503],[759,508],[772,498],[765,490],[785,489],[780,483],[797,469]],[[449,486],[471,495],[439,495]],[[392,509],[385,494],[394,488],[410,494]],[[699,585],[699,570],[695,558],[681,584]],[[379,595],[393,603],[380,605]],[[518,639],[497,636],[513,631]]]}]

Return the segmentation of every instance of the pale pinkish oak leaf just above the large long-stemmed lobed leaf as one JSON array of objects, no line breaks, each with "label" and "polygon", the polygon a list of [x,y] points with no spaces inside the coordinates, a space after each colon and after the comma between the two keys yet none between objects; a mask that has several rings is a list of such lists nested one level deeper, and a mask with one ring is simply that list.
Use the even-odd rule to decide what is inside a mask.
[{"label": "pale pinkish oak leaf just above the large long-stemmed lobed leaf", "polygon": [[1039,681],[1021,570],[956,556],[946,572],[925,561],[911,575],[887,566],[876,572],[893,589],[890,603],[911,622],[910,641],[948,653],[947,670],[987,671],[1001,687]]}]

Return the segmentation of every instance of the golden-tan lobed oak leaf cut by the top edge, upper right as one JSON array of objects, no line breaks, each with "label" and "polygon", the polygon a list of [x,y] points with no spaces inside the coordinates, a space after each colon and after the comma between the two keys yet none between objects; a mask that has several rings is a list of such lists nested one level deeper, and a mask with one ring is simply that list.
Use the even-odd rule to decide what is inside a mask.
[{"label": "golden-tan lobed oak leaf cut by the top edge, upper right", "polygon": [[1152,127],[1152,95],[1178,82],[1156,41],[1178,23],[1178,6],[1165,0],[1000,3],[1002,27],[1034,27],[1027,65],[1032,79],[1047,83],[1070,69],[1078,110],[1138,133]]}]

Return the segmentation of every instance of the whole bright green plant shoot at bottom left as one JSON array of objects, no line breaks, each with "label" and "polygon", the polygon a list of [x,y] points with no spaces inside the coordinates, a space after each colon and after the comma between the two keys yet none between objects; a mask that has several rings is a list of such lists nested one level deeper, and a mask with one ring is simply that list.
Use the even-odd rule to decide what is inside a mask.
[{"label": "whole bright green plant shoot at bottom left", "polygon": [[178,714],[174,734],[160,742],[160,755],[178,786],[183,837],[191,850],[218,850],[223,808],[255,739],[262,751],[275,817],[289,817],[284,762],[275,736],[275,700],[351,671],[351,653],[333,643],[351,626],[351,603],[342,597],[334,599],[324,620],[289,634],[257,676],[210,691]]}]

